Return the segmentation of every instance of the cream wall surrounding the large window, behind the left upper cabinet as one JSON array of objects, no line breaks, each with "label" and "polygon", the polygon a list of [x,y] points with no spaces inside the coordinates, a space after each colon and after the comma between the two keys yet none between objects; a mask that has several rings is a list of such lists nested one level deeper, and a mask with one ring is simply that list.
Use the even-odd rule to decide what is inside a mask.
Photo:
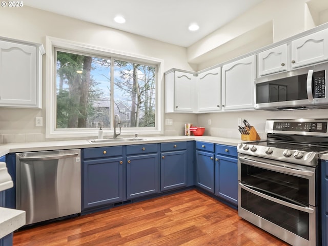
[{"label": "cream wall surrounding the large window, behind the left upper cabinet", "polygon": [[[173,67],[192,70],[187,63],[186,48],[26,6],[23,8],[0,8],[0,30],[0,35],[3,37],[42,43],[44,46],[46,46],[46,36],[52,36],[105,49],[162,59],[164,61],[163,71]],[[43,95],[46,91],[45,65],[44,56]],[[47,110],[45,96],[43,105],[42,110],[0,108],[0,144],[2,142],[44,140],[45,127],[35,127],[35,116],[42,116],[45,125]],[[186,120],[189,117],[197,118],[194,115],[185,115],[184,117]],[[174,122],[180,120],[180,117],[172,118],[177,118]],[[177,129],[179,128],[178,126]]]}]

